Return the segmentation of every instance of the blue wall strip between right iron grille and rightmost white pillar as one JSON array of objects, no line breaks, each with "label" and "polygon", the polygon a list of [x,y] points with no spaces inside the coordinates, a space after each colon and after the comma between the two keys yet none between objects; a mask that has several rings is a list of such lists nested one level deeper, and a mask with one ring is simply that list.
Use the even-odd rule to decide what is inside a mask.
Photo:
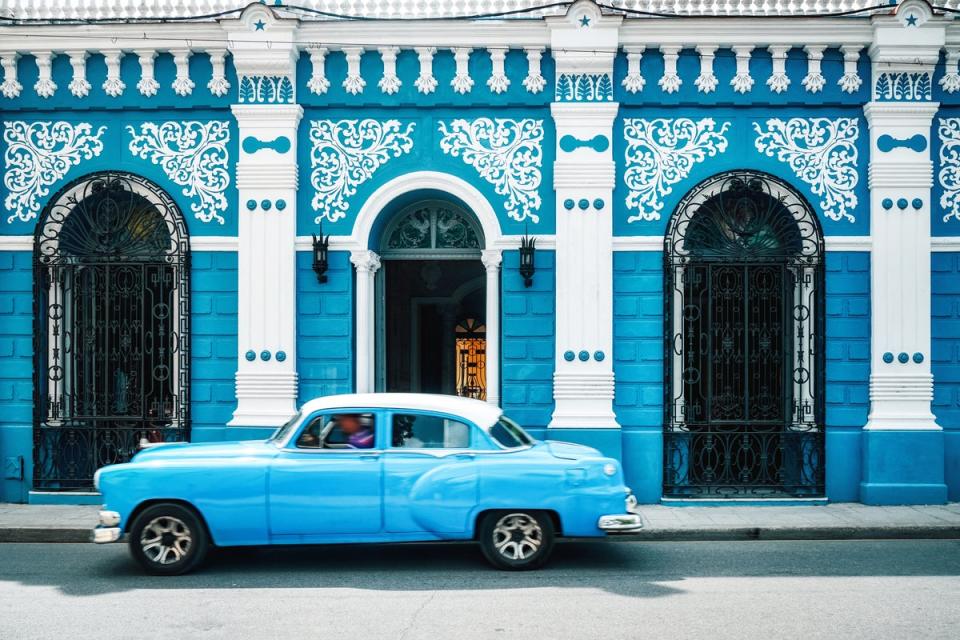
[{"label": "blue wall strip between right iron grille and rightmost white pillar", "polygon": [[827,497],[859,499],[861,433],[870,410],[870,254],[827,254]]}]

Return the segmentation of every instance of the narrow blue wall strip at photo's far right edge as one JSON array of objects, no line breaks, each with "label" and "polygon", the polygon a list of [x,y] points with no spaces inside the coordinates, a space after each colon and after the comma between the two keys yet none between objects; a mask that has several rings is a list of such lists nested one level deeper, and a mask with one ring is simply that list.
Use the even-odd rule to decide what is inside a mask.
[{"label": "narrow blue wall strip at photo's far right edge", "polygon": [[944,430],[947,496],[960,500],[960,253],[931,260],[933,413]]}]

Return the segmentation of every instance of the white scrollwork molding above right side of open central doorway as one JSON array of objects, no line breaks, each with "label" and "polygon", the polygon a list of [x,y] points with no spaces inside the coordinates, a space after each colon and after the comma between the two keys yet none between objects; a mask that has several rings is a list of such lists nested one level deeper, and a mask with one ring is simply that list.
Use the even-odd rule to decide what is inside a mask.
[{"label": "white scrollwork molding above right side of open central doorway", "polygon": [[543,180],[543,120],[458,118],[439,123],[440,148],[461,158],[504,196],[507,215],[522,222],[540,221]]}]

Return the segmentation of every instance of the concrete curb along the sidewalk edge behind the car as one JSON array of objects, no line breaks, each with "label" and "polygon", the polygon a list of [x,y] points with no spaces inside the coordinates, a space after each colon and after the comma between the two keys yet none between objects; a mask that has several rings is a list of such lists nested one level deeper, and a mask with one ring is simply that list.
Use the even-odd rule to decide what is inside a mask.
[{"label": "concrete curb along the sidewalk edge behind the car", "polygon": [[[0,543],[76,543],[90,542],[92,527],[0,528]],[[638,533],[616,534],[614,542],[730,542],[743,540],[950,540],[960,539],[960,526],[900,527],[714,527],[702,529],[646,529]],[[597,538],[567,538],[596,541]]]}]

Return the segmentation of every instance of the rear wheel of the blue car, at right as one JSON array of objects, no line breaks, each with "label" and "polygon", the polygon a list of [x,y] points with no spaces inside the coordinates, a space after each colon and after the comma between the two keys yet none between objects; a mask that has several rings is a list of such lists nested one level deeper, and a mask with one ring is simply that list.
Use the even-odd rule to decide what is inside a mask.
[{"label": "rear wheel of the blue car, at right", "polygon": [[480,549],[498,569],[536,569],[553,551],[553,529],[541,511],[492,511],[480,522]]}]

